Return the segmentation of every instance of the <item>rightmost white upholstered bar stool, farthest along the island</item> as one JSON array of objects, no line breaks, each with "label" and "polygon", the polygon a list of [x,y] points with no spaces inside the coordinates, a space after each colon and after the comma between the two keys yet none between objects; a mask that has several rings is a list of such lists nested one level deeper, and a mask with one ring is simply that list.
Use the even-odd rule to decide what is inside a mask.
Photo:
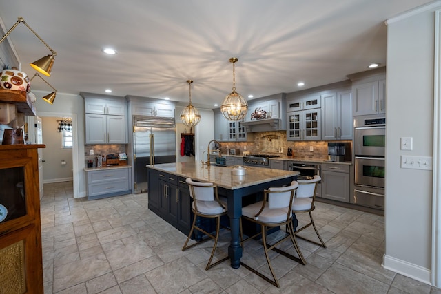
[{"label": "rightmost white upholstered bar stool, farthest along the island", "polygon": [[[320,234],[317,231],[316,224],[314,224],[314,219],[312,218],[312,211],[316,209],[316,189],[317,184],[320,182],[322,178],[320,176],[314,176],[311,180],[298,180],[298,188],[296,191],[296,197],[294,198],[294,202],[292,204],[292,212],[298,215],[298,213],[306,212],[309,213],[309,220],[307,224],[305,224],[300,229],[296,230],[296,237],[301,238],[303,240],[307,240],[309,242],[312,242],[314,244],[317,244],[318,246],[323,246],[326,248],[325,242],[323,242],[322,238],[320,237]],[[316,231],[317,237],[320,240],[319,242],[307,239],[305,237],[302,237],[298,235],[301,231],[306,229],[307,227],[311,226],[314,228],[314,231]]]}]

